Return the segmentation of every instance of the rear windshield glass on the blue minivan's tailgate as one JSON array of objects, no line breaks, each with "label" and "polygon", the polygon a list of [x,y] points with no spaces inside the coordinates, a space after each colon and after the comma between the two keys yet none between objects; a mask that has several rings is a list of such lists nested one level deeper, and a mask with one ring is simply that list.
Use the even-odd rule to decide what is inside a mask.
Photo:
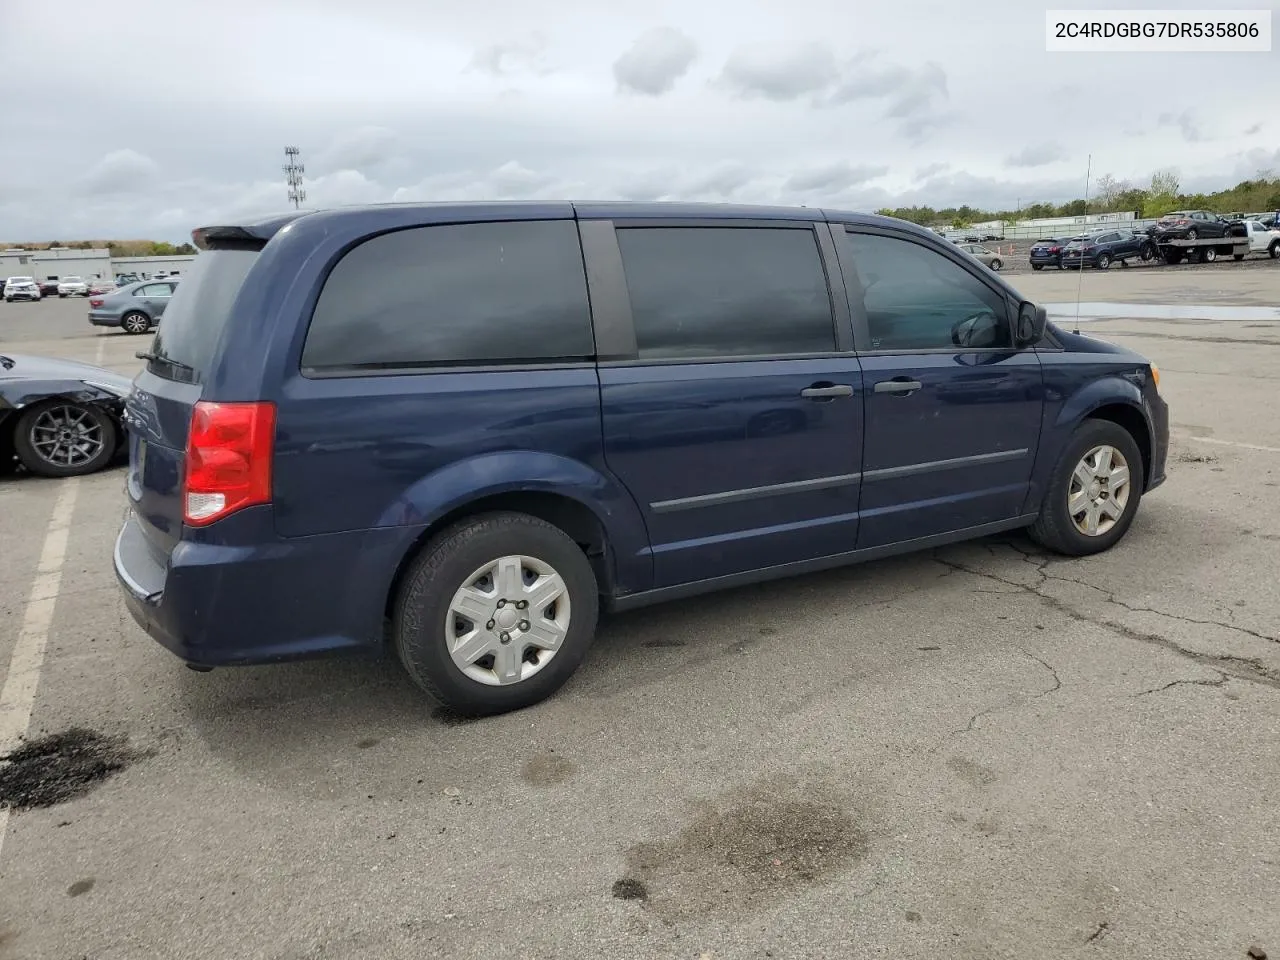
[{"label": "rear windshield glass on the blue minivan's tailgate", "polygon": [[[151,346],[147,369],[157,376],[200,383],[214,361],[232,305],[257,260],[252,250],[210,250],[196,257],[173,291]],[[168,292],[169,284],[156,284]]]}]

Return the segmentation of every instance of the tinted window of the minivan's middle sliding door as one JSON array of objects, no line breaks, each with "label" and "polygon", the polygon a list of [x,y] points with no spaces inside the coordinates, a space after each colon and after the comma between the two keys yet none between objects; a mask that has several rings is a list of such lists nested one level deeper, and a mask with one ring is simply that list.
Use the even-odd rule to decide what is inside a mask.
[{"label": "tinted window of the minivan's middle sliding door", "polygon": [[641,360],[836,349],[813,230],[634,227],[617,237]]}]

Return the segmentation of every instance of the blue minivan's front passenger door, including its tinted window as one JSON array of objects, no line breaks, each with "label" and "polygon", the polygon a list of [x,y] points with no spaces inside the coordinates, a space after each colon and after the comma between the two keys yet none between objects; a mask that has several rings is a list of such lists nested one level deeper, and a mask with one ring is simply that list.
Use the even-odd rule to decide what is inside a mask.
[{"label": "blue minivan's front passenger door, including its tinted window", "polygon": [[923,241],[861,227],[842,239],[867,416],[859,547],[1016,517],[1043,376],[1034,349],[1012,347],[1009,297]]}]

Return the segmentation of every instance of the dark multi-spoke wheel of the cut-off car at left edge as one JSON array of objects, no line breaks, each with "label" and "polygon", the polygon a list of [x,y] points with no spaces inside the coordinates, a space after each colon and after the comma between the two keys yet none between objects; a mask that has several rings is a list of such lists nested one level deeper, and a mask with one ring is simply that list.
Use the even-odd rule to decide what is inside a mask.
[{"label": "dark multi-spoke wheel of the cut-off car at left edge", "polygon": [[38,476],[84,476],[115,454],[115,424],[97,407],[51,399],[33,404],[14,428],[18,461]]}]

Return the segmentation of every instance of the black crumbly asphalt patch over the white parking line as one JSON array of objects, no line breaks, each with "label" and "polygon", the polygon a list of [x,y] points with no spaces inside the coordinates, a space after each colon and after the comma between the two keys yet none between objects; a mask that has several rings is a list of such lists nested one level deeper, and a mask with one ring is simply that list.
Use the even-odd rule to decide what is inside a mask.
[{"label": "black crumbly asphalt patch over the white parking line", "polygon": [[86,727],[28,740],[0,756],[0,808],[31,810],[76,800],[141,756],[125,737]]}]

